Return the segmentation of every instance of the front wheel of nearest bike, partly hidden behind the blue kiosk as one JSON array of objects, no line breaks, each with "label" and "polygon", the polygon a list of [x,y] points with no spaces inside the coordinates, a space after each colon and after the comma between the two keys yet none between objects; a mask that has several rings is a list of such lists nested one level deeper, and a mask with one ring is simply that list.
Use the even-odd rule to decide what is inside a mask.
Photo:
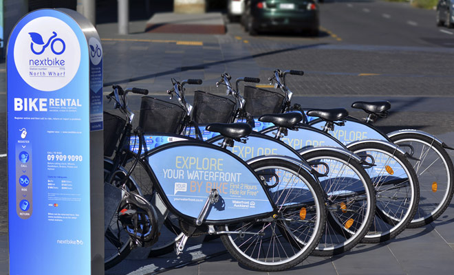
[{"label": "front wheel of nearest bike, partly hidden behind the blue kiosk", "polygon": [[[105,177],[105,184],[113,184],[116,187],[118,183],[125,177],[125,173],[116,173],[116,177],[112,179],[110,182],[106,182],[106,179],[109,177],[111,173],[113,164],[111,162],[104,161],[104,177]],[[130,177],[131,178],[131,177]],[[137,192],[141,194],[140,188],[134,179],[130,179],[126,182],[126,186],[129,189],[129,192]],[[118,201],[120,203],[120,201]],[[131,237],[127,232],[125,232],[117,223],[118,221],[118,211],[114,214],[114,217],[111,217],[109,221],[109,227],[105,232],[104,242],[104,268],[105,270],[109,270],[109,268],[114,267],[120,261],[124,260],[131,252]],[[105,217],[105,219],[109,219]],[[121,236],[120,236],[121,235]]]}]

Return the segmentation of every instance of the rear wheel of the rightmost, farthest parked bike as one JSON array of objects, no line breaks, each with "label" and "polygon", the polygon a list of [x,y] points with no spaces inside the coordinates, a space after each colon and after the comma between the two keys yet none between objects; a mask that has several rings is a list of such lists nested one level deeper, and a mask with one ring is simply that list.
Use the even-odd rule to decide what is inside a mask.
[{"label": "rear wheel of the rightmost, farthest parked bike", "polygon": [[420,203],[408,227],[427,225],[440,217],[453,199],[454,167],[451,157],[440,143],[426,135],[402,133],[393,135],[390,139],[404,151],[413,153],[413,157],[420,159],[409,159],[418,175]]}]

